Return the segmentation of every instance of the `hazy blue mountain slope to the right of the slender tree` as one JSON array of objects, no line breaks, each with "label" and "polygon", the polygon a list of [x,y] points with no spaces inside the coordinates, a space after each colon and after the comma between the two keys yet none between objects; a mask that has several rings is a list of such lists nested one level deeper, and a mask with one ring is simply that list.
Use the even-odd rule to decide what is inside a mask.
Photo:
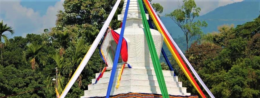
[{"label": "hazy blue mountain slope to the right of the slender tree", "polygon": [[199,16],[199,18],[216,19],[205,20],[208,23],[208,27],[202,30],[204,33],[210,33],[217,31],[217,27],[220,25],[234,24],[234,26],[236,26],[252,21],[254,18],[259,16],[259,11],[260,0],[245,0],[218,7],[203,16]]}]

